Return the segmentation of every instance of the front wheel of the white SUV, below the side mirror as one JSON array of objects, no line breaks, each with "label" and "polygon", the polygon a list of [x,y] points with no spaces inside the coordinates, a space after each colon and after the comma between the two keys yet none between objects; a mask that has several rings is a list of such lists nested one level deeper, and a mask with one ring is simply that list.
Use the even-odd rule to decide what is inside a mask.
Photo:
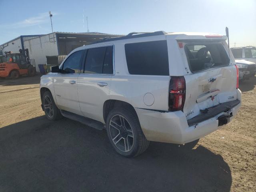
[{"label": "front wheel of the white SUV, below the side mirror", "polygon": [[52,94],[49,91],[44,92],[42,97],[42,104],[46,118],[51,121],[62,118],[62,114],[56,106]]}]

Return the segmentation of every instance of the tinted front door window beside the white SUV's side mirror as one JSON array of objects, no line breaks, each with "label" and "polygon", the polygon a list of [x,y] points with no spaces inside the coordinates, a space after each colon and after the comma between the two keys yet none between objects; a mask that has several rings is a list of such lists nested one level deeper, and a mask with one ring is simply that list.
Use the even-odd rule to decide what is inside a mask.
[{"label": "tinted front door window beside the white SUV's side mirror", "polygon": [[80,50],[71,54],[63,64],[63,70],[72,69],[75,73],[81,72],[81,58],[84,50]]}]

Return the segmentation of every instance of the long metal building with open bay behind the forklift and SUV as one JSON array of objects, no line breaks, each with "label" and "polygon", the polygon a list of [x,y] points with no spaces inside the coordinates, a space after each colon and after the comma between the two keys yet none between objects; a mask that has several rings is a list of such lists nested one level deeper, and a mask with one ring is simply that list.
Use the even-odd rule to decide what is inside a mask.
[{"label": "long metal building with open bay behind the forklift and SUV", "polygon": [[[35,60],[36,71],[39,72],[38,64],[46,64],[46,56],[67,55],[77,47],[102,40],[105,37],[118,36],[121,35],[98,32],[53,32],[46,35],[20,36],[0,45],[0,49],[4,46],[3,53],[4,51],[18,53],[19,49],[28,48],[30,59]],[[8,47],[5,46],[6,44]]]}]

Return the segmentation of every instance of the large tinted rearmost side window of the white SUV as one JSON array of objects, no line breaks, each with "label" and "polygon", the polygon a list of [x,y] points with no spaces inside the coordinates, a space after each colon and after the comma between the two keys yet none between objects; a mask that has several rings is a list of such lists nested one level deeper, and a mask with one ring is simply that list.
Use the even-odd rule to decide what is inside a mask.
[{"label": "large tinted rearmost side window of the white SUV", "polygon": [[167,42],[125,44],[128,71],[136,75],[169,75]]}]

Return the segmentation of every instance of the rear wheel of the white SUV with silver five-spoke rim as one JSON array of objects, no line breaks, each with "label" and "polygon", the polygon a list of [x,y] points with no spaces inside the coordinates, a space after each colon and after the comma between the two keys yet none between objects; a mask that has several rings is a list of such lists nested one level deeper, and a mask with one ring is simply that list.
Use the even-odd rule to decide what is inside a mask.
[{"label": "rear wheel of the white SUV with silver five-spoke rim", "polygon": [[108,115],[106,129],[110,143],[122,156],[138,156],[148,148],[149,141],[130,110],[114,108]]}]

